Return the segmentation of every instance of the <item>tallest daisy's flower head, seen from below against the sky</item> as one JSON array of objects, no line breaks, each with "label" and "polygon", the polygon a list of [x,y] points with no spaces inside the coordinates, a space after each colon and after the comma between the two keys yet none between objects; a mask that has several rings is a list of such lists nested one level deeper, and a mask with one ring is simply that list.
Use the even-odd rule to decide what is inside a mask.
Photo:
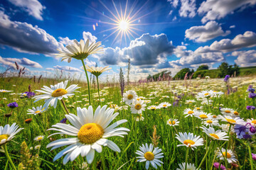
[{"label": "tallest daisy's flower head, seen from below against the sky", "polygon": [[84,60],[88,55],[101,53],[103,47],[100,47],[101,42],[92,42],[89,45],[89,39],[84,42],[84,40],[74,40],[72,45],[67,45],[65,48],[57,49],[60,53],[56,54],[56,57],[62,57],[62,60],[68,60],[71,62],[72,58],[77,60]]}]

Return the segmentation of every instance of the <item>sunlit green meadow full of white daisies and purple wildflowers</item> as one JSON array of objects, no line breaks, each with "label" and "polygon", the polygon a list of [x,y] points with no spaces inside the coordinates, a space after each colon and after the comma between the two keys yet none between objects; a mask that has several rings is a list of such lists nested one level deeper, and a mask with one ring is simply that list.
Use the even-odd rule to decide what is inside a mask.
[{"label": "sunlit green meadow full of white daisies and purple wildflowers", "polygon": [[255,169],[255,77],[76,83],[1,79],[0,169]]}]

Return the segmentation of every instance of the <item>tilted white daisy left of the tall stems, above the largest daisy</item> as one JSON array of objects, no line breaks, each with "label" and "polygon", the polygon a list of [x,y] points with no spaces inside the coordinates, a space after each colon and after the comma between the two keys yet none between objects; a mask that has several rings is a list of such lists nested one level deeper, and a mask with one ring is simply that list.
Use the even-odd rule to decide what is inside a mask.
[{"label": "tilted white daisy left of the tall stems, above the largest daisy", "polygon": [[[43,93],[42,95],[35,96],[33,98],[36,98],[36,101],[40,101],[41,99],[46,99],[46,103],[43,105],[43,108],[48,108],[48,106],[53,106],[56,108],[58,100],[61,100],[63,98],[68,98],[68,96],[73,96],[73,92],[76,89],[79,89],[78,84],[73,84],[66,88],[68,85],[68,80],[66,80],[64,83],[63,81],[55,84],[54,86],[50,85],[50,88],[48,86],[43,86],[42,90],[36,90],[40,93]],[[36,102],[34,101],[34,103]]]}]

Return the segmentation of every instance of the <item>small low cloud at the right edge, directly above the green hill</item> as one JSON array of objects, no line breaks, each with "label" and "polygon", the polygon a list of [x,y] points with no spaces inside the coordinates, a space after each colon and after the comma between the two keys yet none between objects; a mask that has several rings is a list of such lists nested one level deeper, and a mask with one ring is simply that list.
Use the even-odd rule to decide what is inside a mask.
[{"label": "small low cloud at the right edge, directly above the green hill", "polygon": [[238,56],[235,63],[240,67],[255,66],[256,65],[256,50],[235,51],[233,56]]}]

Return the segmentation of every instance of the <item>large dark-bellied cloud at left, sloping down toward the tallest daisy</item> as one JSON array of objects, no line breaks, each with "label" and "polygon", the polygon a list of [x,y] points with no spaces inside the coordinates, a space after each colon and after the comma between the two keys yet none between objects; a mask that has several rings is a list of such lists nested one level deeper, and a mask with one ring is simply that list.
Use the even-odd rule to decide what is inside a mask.
[{"label": "large dark-bellied cloud at left, sloping down toward the tallest daisy", "polygon": [[11,21],[0,11],[0,44],[13,47],[18,52],[52,55],[62,44],[46,30],[29,23]]}]

